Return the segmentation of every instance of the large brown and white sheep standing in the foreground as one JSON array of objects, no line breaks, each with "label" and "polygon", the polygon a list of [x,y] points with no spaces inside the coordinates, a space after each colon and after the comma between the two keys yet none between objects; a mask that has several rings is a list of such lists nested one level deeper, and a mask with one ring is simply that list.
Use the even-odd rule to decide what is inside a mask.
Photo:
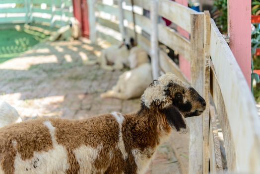
[{"label": "large brown and white sheep standing in the foreground", "polygon": [[172,129],[186,133],[204,99],[173,74],[144,91],[137,113],[28,120],[0,128],[0,174],[143,174]]}]

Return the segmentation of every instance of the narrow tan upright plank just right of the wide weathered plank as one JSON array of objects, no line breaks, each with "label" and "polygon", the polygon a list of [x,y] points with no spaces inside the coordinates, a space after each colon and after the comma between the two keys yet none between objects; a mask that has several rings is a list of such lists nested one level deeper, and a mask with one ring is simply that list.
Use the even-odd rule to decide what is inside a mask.
[{"label": "narrow tan upright plank just right of the wide weathered plank", "polygon": [[203,61],[203,98],[206,109],[203,112],[203,174],[208,174],[208,138],[209,138],[209,81],[210,81],[210,13],[204,11],[204,61]]}]

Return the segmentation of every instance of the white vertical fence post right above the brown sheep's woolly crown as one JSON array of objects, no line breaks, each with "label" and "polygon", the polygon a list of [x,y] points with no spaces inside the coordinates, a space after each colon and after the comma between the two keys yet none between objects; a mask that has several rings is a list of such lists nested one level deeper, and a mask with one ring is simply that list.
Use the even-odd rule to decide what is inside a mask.
[{"label": "white vertical fence post right above the brown sheep's woolly crown", "polygon": [[158,0],[152,0],[151,10],[151,64],[153,79],[159,77],[159,49],[158,49]]}]

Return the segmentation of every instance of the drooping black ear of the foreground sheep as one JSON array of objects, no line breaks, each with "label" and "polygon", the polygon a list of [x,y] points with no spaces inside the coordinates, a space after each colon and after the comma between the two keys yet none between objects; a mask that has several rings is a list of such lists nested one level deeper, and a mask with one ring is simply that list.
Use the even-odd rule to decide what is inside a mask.
[{"label": "drooping black ear of the foreground sheep", "polygon": [[180,111],[173,105],[170,107],[164,108],[163,112],[166,116],[166,119],[169,125],[179,133],[187,133],[189,128],[186,123],[184,116]]}]

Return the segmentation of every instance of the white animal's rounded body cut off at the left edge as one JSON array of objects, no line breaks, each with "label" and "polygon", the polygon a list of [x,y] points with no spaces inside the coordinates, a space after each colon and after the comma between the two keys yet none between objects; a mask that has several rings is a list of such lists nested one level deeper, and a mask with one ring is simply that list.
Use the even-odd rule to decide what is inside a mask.
[{"label": "white animal's rounded body cut off at the left edge", "polygon": [[16,109],[4,100],[0,100],[0,127],[21,121],[22,119]]}]

